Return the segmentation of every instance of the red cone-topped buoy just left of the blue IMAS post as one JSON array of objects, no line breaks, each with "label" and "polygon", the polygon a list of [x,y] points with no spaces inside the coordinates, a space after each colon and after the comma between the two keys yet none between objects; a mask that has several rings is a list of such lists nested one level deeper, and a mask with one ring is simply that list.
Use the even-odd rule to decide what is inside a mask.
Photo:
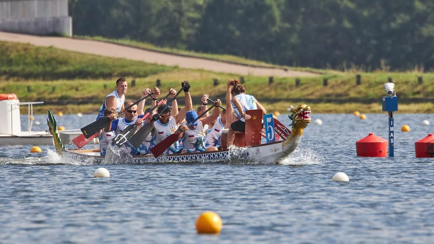
[{"label": "red cone-topped buoy just left of the blue IMAS post", "polygon": [[357,156],[360,157],[385,157],[387,156],[387,140],[369,133],[355,142]]}]

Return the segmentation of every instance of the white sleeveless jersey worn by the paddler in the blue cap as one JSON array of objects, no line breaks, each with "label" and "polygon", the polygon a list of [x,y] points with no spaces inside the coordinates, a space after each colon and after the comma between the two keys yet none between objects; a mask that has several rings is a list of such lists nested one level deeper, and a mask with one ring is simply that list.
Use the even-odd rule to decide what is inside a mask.
[{"label": "white sleeveless jersey worn by the paddler in the blue cap", "polygon": [[[187,123],[185,123],[187,125]],[[204,125],[201,120],[197,120],[197,126],[194,130],[188,128],[184,131],[182,143],[184,144],[184,153],[198,153],[207,150],[204,143]]]}]

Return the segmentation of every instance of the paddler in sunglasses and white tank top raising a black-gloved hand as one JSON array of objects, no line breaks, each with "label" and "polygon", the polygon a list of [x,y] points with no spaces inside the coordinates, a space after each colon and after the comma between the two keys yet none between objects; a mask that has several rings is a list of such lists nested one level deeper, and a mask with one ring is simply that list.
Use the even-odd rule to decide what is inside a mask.
[{"label": "paddler in sunglasses and white tank top raising a black-gloved hand", "polygon": [[[153,129],[152,134],[154,135],[155,143],[158,144],[171,134],[175,132],[175,130],[178,128],[179,124],[181,124],[182,120],[185,118],[185,114],[187,114],[187,111],[190,111],[193,107],[193,103],[191,101],[190,96],[190,84],[188,84],[187,81],[184,81],[181,83],[181,85],[184,85],[184,94],[185,94],[185,107],[183,107],[178,114],[172,115],[170,108],[165,108],[164,105],[160,105],[157,109],[157,113],[161,115],[160,118],[153,123]],[[174,97],[174,94],[171,94],[171,98]],[[165,154],[171,154],[171,153],[181,153],[181,147],[179,146],[178,141],[173,143],[168,150],[166,150],[163,155]]]}]

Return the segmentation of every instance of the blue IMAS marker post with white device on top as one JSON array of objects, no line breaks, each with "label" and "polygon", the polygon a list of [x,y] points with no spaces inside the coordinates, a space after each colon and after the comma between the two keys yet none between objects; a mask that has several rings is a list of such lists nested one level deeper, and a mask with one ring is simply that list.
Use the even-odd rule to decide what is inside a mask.
[{"label": "blue IMAS marker post with white device on top", "polygon": [[389,113],[389,157],[393,157],[393,147],[395,145],[394,141],[394,121],[393,114],[398,111],[398,97],[395,94],[395,84],[388,82],[384,84],[384,89],[389,95],[388,97],[383,97],[381,104],[383,107],[383,112]]}]

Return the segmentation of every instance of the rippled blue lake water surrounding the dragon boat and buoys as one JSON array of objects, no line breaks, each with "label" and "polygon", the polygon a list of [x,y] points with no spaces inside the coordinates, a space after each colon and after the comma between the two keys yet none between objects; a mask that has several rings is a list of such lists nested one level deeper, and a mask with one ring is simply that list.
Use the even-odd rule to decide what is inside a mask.
[{"label": "rippled blue lake water surrounding the dragon boat and buoys", "polygon": [[[95,115],[56,118],[75,129]],[[355,150],[370,132],[388,137],[387,114],[359,120],[313,108],[299,149],[282,165],[107,164],[110,178],[93,178],[99,165],[66,162],[47,146],[40,154],[1,146],[0,242],[434,243],[434,160],[414,156],[414,142],[433,132],[424,119],[434,123],[434,114],[395,115],[394,158]],[[36,120],[33,130],[47,129],[45,115]],[[401,132],[403,124],[411,131]],[[336,172],[350,181],[332,181]],[[196,234],[208,210],[222,218],[218,235]]]}]

